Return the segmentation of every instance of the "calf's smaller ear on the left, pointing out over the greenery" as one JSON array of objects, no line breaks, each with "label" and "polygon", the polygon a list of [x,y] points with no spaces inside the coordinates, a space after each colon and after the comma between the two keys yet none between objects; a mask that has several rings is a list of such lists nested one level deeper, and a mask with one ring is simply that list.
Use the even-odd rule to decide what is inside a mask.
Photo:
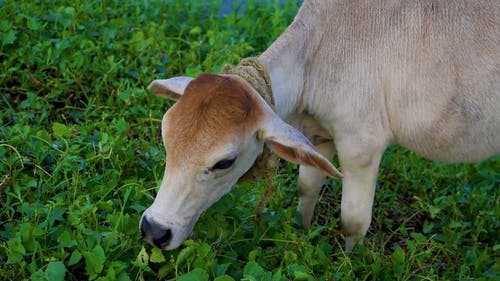
[{"label": "calf's smaller ear on the left, pointing out over the greenery", "polygon": [[184,90],[186,90],[189,82],[193,79],[194,78],[191,77],[179,76],[169,79],[154,80],[149,84],[148,90],[156,96],[170,100],[178,100],[184,94]]}]

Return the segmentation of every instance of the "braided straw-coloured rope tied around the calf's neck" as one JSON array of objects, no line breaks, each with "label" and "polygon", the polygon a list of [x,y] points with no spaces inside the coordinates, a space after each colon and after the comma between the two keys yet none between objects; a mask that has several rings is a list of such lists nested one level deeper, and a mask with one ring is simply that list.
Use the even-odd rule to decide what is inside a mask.
[{"label": "braided straw-coloured rope tied around the calf's neck", "polygon": [[[245,79],[274,110],[271,78],[269,77],[269,73],[266,68],[257,58],[245,58],[241,60],[235,68],[231,68],[231,66],[226,64],[222,69],[222,73],[238,75]],[[238,183],[241,183],[246,181],[256,181],[262,178],[265,180],[266,193],[260,200],[259,205],[255,210],[256,219],[259,224],[262,221],[264,207],[267,205],[275,192],[272,178],[277,166],[278,157],[273,154],[267,146],[264,146],[262,154],[257,158],[257,160],[255,160],[255,163],[250,170],[248,170],[248,172],[246,172],[238,181]]]}]

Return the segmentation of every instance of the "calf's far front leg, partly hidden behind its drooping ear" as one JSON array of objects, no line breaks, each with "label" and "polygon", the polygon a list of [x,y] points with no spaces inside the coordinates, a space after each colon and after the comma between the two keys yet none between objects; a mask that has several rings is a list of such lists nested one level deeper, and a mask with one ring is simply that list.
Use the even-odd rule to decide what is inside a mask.
[{"label": "calf's far front leg, partly hidden behind its drooping ear", "polygon": [[[325,142],[315,146],[316,150],[330,160],[334,151],[333,142]],[[325,181],[325,173],[311,166],[300,165],[297,191],[299,193],[298,210],[302,215],[302,224],[307,229],[311,226],[314,207],[318,200],[319,192]]]}]

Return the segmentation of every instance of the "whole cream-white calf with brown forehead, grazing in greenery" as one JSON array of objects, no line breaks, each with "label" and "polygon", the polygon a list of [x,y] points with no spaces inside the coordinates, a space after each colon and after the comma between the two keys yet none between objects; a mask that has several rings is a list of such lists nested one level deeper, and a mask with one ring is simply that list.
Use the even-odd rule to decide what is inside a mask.
[{"label": "whole cream-white calf with brown forehead, grazing in greenery", "polygon": [[245,80],[204,74],[156,80],[177,100],[162,121],[168,155],[143,237],[178,247],[264,145],[301,164],[307,227],[325,179],[341,174],[346,249],[370,225],[385,148],[469,162],[500,151],[500,1],[304,1],[258,58],[272,110]]}]

